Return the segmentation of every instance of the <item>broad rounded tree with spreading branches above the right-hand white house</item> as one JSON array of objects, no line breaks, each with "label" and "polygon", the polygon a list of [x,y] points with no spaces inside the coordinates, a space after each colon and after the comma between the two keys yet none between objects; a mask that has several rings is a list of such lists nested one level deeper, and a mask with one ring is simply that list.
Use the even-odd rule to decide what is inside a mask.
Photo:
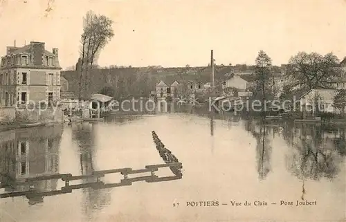
[{"label": "broad rounded tree with spreading branches above the right-hand white house", "polygon": [[338,64],[338,57],[333,53],[322,56],[318,53],[300,52],[289,59],[287,74],[292,87],[300,86],[310,90],[340,77],[341,70],[337,68]]}]

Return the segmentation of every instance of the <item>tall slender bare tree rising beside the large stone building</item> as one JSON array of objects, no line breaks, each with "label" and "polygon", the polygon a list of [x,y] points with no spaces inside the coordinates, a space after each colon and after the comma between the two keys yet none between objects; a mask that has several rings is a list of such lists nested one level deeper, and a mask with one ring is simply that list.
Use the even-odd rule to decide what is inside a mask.
[{"label": "tall slender bare tree rising beside the large stone building", "polygon": [[[97,62],[100,51],[114,36],[113,21],[104,15],[96,15],[93,11],[86,12],[83,18],[83,33],[80,40],[79,98],[82,98],[83,88],[89,85],[89,71]],[[84,86],[84,87],[83,87]]]}]

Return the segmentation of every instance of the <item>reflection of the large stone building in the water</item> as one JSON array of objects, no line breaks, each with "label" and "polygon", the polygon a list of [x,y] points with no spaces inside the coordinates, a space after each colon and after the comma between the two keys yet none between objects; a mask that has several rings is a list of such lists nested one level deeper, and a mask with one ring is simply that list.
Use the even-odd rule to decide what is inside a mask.
[{"label": "reflection of the large stone building in the water", "polygon": [[[28,178],[59,173],[59,149],[62,125],[18,129],[0,133],[1,187],[5,192],[57,190],[57,179],[33,181]],[[43,203],[43,196],[26,196],[28,203]]]}]

